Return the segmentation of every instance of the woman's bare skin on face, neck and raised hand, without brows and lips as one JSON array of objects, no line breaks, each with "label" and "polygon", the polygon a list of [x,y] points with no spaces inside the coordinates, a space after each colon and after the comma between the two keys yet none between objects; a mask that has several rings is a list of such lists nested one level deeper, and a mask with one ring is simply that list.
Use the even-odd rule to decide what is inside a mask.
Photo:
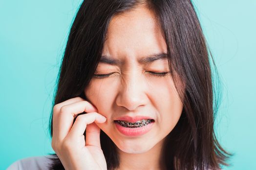
[{"label": "woman's bare skin on face, neck and raised hand, without brows and lips", "polygon": [[[183,104],[170,74],[157,77],[149,72],[168,72],[167,59],[138,63],[141,57],[167,52],[157,25],[154,14],[144,7],[113,17],[103,55],[122,60],[122,65],[99,63],[95,74],[113,74],[90,81],[84,91],[88,101],[77,97],[54,106],[52,148],[65,170],[107,170],[100,130],[116,144],[120,170],[164,170],[163,142],[177,124]],[[84,111],[87,114],[78,116]],[[116,129],[117,117],[138,115],[155,120],[148,133],[130,137]]]}]

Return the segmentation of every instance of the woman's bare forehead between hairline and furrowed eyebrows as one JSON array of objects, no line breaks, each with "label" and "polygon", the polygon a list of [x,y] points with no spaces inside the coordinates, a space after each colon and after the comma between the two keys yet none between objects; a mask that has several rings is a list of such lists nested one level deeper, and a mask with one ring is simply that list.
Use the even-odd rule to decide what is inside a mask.
[{"label": "woman's bare forehead between hairline and furrowed eyebrows", "polygon": [[[124,61],[166,53],[166,43],[152,11],[136,7],[110,20],[102,56]],[[162,57],[163,59],[163,57]]]}]

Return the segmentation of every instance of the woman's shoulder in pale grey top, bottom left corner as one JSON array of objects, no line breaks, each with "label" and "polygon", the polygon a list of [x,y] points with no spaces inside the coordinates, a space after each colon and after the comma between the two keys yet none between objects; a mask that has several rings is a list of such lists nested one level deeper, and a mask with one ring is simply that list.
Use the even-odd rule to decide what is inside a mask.
[{"label": "woman's shoulder in pale grey top, bottom left corner", "polygon": [[48,170],[54,155],[27,157],[12,163],[7,170]]}]

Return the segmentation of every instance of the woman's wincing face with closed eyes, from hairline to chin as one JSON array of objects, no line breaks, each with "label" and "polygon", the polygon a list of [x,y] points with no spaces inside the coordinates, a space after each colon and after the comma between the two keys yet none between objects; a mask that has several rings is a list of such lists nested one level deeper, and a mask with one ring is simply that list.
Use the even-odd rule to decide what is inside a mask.
[{"label": "woman's wincing face with closed eyes, from hairline to chin", "polygon": [[95,72],[110,75],[93,77],[85,89],[87,100],[107,118],[98,126],[126,153],[149,151],[181,116],[183,104],[170,73],[152,73],[169,72],[168,59],[147,58],[166,56],[158,25],[154,14],[142,7],[113,17],[102,53],[105,58]]}]

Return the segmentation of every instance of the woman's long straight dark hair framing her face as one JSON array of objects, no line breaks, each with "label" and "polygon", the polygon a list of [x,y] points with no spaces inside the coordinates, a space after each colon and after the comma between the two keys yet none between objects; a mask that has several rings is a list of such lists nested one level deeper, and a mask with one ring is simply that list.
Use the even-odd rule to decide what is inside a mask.
[{"label": "woman's long straight dark hair framing her face", "polygon": [[[86,100],[84,89],[101,58],[111,18],[138,5],[155,13],[175,87],[180,98],[184,94],[181,117],[165,141],[166,168],[214,170],[229,166],[226,162],[232,154],[220,146],[213,129],[221,99],[215,88],[218,74],[190,0],[84,0],[68,36],[53,105],[77,96]],[[185,89],[177,78],[185,83]],[[52,113],[49,127],[52,136]],[[118,168],[116,147],[104,132],[101,146],[107,168]],[[51,161],[51,170],[64,170],[57,155]]]}]

